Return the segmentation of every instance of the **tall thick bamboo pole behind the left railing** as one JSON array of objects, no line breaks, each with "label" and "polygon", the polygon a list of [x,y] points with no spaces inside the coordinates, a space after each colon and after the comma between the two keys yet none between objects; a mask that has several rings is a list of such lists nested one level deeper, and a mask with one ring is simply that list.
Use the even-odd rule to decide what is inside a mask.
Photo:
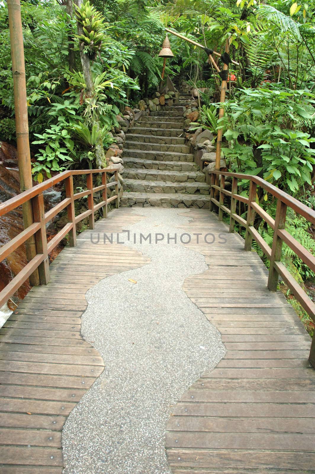
[{"label": "tall thick bamboo pole behind the left railing", "polygon": [[[25,81],[24,46],[20,0],[8,0],[12,73],[14,86],[15,124],[18,148],[18,171],[21,192],[33,187],[31,155],[28,138],[27,95]],[[22,205],[23,224],[26,229],[34,222],[31,201]],[[35,236],[26,241],[27,262],[37,254]],[[31,285],[39,285],[38,268],[29,277]]]}]

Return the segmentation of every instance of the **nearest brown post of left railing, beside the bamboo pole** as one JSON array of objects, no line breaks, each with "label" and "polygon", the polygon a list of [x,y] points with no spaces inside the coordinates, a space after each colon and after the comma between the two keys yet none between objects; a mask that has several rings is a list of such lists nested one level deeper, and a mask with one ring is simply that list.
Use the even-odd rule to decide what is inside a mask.
[{"label": "nearest brown post of left railing, beside the bamboo pole", "polygon": [[32,199],[32,207],[34,222],[40,222],[40,229],[35,233],[37,254],[44,255],[43,262],[38,266],[39,281],[41,285],[46,285],[50,280],[50,276],[45,226],[44,196],[42,192]]}]

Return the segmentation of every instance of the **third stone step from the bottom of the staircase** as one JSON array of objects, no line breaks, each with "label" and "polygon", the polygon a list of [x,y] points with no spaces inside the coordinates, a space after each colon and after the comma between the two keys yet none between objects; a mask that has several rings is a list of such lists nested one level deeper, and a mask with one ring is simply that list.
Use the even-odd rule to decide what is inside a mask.
[{"label": "third stone step from the bottom of the staircase", "polygon": [[188,183],[188,182],[205,182],[206,176],[200,171],[169,171],[169,170],[146,170],[138,168],[125,168],[123,178],[131,180],[144,180],[154,182],[176,182],[176,183]]}]

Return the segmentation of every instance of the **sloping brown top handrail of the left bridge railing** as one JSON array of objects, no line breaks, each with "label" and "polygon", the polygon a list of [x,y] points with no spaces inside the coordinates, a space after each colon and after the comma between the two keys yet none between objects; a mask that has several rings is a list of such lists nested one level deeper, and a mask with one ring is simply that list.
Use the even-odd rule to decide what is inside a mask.
[{"label": "sloping brown top handrail of the left bridge railing", "polygon": [[7,214],[10,210],[16,209],[18,206],[24,204],[25,202],[29,201],[30,199],[37,196],[39,193],[46,191],[46,189],[51,188],[58,182],[61,182],[68,178],[69,176],[77,175],[77,174],[89,174],[89,173],[103,173],[104,171],[108,172],[115,172],[118,171],[119,168],[100,168],[98,170],[69,170],[63,171],[63,173],[59,173],[53,178],[49,178],[48,180],[41,182],[40,184],[36,184],[33,188],[28,189],[27,191],[20,192],[17,196],[8,199],[5,202],[0,204],[0,217],[4,214]]}]

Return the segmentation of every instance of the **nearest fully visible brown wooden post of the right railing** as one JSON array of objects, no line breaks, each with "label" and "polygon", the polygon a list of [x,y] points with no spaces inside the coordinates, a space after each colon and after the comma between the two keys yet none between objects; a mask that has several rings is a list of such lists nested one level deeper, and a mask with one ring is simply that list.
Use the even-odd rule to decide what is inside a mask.
[{"label": "nearest fully visible brown wooden post of the right railing", "polygon": [[286,227],[286,217],[287,217],[287,204],[284,204],[278,198],[276,219],[275,219],[275,229],[273,233],[272,250],[271,250],[271,257],[270,257],[269,277],[268,277],[268,288],[270,292],[277,291],[279,275],[278,275],[277,270],[274,267],[274,264],[275,262],[281,261],[281,253],[282,253],[282,239],[278,236],[278,229],[284,229]]}]

